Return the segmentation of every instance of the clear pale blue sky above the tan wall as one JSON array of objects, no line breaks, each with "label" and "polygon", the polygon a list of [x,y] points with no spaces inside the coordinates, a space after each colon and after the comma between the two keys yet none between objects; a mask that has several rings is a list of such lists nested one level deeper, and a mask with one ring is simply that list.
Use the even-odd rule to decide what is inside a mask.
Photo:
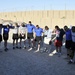
[{"label": "clear pale blue sky above the tan wall", "polygon": [[0,12],[75,10],[75,0],[0,0]]}]

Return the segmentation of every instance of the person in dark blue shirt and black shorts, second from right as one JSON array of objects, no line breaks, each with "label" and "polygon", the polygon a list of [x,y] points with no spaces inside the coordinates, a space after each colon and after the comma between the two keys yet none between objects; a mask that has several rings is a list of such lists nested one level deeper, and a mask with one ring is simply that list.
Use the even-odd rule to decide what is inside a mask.
[{"label": "person in dark blue shirt and black shorts, second from right", "polygon": [[66,35],[65,47],[67,49],[67,59],[69,59],[71,43],[72,43],[71,29],[69,29],[67,26],[64,26],[64,30],[65,30],[65,35]]}]

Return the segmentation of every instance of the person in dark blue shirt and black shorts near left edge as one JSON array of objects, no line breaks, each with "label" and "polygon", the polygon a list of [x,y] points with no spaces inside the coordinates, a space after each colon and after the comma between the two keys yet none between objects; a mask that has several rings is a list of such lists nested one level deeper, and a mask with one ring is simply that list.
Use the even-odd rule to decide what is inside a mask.
[{"label": "person in dark blue shirt and black shorts near left edge", "polygon": [[2,28],[3,28],[3,39],[4,39],[4,48],[5,48],[4,50],[7,51],[8,50],[7,40],[9,38],[9,30],[10,28],[12,28],[12,26],[7,24],[7,25],[3,25]]}]

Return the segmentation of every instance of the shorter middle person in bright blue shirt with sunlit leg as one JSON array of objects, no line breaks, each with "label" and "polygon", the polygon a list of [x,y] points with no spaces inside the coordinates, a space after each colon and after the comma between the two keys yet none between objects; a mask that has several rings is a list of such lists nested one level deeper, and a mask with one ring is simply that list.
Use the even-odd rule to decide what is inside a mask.
[{"label": "shorter middle person in bright blue shirt with sunlit leg", "polygon": [[35,33],[35,41],[38,42],[38,51],[40,50],[40,43],[42,41],[42,33],[43,29],[39,27],[39,25],[36,25],[36,28],[34,30]]}]

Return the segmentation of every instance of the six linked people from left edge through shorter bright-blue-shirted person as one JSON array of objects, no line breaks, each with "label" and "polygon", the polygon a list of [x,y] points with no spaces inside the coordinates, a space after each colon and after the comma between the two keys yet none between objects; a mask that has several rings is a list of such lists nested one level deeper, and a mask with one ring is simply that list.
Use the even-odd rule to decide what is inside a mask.
[{"label": "six linked people from left edge through shorter bright-blue-shirted person", "polygon": [[[3,35],[2,35],[3,29]],[[43,29],[39,27],[39,25],[34,26],[31,21],[28,24],[21,23],[13,23],[10,25],[0,24],[0,43],[2,41],[2,37],[4,40],[4,50],[8,51],[7,41],[9,38],[9,31],[12,29],[12,39],[13,39],[13,49],[22,48],[22,40],[24,41],[24,49],[26,49],[26,39],[28,39],[28,47],[34,48],[35,42],[38,42],[38,50],[40,49],[40,42],[42,41],[42,33]],[[20,39],[20,43],[18,40]],[[20,46],[19,46],[19,45]]]}]

